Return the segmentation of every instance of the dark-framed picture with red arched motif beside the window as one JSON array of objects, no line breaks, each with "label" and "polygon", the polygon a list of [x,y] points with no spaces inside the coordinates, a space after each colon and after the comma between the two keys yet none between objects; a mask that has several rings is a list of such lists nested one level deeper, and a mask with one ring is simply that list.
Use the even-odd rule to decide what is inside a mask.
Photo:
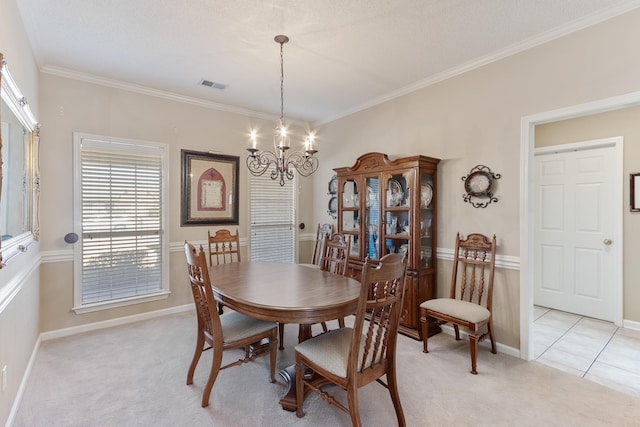
[{"label": "dark-framed picture with red arched motif beside the window", "polygon": [[182,225],[238,224],[240,157],[182,150]]}]

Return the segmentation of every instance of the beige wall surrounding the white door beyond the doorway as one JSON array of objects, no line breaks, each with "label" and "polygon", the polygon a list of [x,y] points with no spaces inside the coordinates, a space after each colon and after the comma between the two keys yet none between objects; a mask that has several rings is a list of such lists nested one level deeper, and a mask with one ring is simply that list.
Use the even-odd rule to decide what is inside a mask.
[{"label": "beige wall surrounding the white door beyond the doorway", "polygon": [[629,210],[629,174],[640,172],[640,107],[625,108],[572,120],[536,126],[536,147],[622,136],[623,176],[623,313],[625,320],[640,322],[640,263],[636,261],[640,242],[640,213]]}]

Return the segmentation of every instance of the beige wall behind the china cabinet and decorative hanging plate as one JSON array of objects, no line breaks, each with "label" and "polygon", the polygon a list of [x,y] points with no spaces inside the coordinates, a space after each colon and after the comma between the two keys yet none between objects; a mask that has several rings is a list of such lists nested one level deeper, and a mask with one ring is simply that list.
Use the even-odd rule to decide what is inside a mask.
[{"label": "beige wall behind the china cabinet and decorative hanging plate", "polygon": [[[495,233],[499,256],[521,257],[521,118],[640,90],[640,55],[632,42],[639,38],[640,11],[634,11],[328,123],[321,132],[322,164],[348,166],[367,151],[440,158],[438,247],[451,249],[458,231]],[[461,177],[478,164],[502,174],[500,200],[486,209],[462,200]],[[319,178],[316,194],[329,172]],[[438,266],[443,296],[451,266]],[[497,340],[518,348],[519,275],[499,270]]]}]

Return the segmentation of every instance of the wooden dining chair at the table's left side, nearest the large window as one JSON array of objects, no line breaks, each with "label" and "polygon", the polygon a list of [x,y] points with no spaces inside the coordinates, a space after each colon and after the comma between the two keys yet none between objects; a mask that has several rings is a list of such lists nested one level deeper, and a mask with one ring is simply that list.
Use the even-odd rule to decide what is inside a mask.
[{"label": "wooden dining chair at the table's left side, nearest the large window", "polygon": [[[219,315],[202,246],[197,252],[192,244],[185,242],[184,252],[198,318],[196,349],[187,373],[187,385],[193,384],[193,374],[202,352],[210,349],[213,351],[209,379],[202,394],[202,407],[209,405],[213,384],[221,370],[253,361],[267,352],[270,356],[270,380],[274,382],[278,347],[276,323],[233,311]],[[222,353],[230,349],[244,350],[244,358],[222,366]]]}]

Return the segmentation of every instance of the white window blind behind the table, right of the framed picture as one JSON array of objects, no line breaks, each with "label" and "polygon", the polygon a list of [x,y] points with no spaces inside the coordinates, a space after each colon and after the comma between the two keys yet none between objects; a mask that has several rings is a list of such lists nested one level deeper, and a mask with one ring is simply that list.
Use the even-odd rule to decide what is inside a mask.
[{"label": "white window blind behind the table, right of the framed picture", "polygon": [[268,174],[249,179],[252,261],[296,261],[297,178],[280,186]]}]

